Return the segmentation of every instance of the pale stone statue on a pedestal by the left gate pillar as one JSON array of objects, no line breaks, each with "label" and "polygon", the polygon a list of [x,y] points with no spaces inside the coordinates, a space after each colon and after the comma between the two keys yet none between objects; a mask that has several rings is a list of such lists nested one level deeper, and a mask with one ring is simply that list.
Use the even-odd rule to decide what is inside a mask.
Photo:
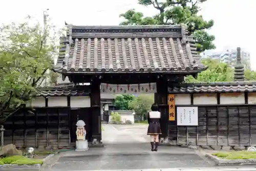
[{"label": "pale stone statue on a pedestal by the left gate pillar", "polygon": [[88,150],[88,141],[86,140],[86,129],[84,129],[83,120],[78,120],[76,122],[76,151],[87,151]]}]

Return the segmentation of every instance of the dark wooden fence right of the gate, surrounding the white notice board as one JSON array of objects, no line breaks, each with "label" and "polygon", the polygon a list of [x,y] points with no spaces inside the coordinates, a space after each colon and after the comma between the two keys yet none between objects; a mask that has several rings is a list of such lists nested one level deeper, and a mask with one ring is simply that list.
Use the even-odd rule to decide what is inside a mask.
[{"label": "dark wooden fence right of the gate, surrounding the white notice board", "polygon": [[256,146],[256,105],[186,106],[198,106],[199,125],[177,126],[177,121],[169,122],[168,138],[172,144]]}]

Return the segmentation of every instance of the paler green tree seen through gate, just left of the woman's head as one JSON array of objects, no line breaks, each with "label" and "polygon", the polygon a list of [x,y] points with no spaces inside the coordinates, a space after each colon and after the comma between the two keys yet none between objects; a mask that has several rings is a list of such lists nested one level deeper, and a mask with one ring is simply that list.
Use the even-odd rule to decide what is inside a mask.
[{"label": "paler green tree seen through gate, just left of the woman's head", "polygon": [[137,115],[146,116],[151,110],[151,105],[154,103],[154,94],[142,94],[129,103]]}]

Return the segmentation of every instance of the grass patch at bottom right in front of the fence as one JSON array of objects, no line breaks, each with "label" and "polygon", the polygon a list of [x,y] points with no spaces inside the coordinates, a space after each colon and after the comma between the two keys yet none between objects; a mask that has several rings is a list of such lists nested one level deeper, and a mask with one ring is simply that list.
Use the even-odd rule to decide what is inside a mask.
[{"label": "grass patch at bottom right in front of the fence", "polygon": [[228,160],[235,159],[256,159],[256,152],[247,152],[247,151],[235,151],[235,152],[218,152],[212,154],[216,157]]}]

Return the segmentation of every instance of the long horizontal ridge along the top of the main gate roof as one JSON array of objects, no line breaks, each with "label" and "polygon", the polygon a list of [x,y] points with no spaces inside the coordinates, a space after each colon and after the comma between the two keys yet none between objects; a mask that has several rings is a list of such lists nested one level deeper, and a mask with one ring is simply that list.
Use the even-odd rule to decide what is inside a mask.
[{"label": "long horizontal ridge along the top of the main gate roof", "polygon": [[[143,34],[142,34],[143,33]],[[181,37],[181,25],[73,26],[74,38]]]}]

